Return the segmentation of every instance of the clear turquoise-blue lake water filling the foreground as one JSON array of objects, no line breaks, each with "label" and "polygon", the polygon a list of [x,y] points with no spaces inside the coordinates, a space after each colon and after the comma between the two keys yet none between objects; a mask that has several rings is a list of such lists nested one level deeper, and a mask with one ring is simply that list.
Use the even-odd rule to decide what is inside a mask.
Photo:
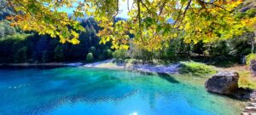
[{"label": "clear turquoise-blue lake water filling the foreground", "polygon": [[207,93],[204,81],[84,67],[1,69],[0,114],[240,114],[240,101]]}]

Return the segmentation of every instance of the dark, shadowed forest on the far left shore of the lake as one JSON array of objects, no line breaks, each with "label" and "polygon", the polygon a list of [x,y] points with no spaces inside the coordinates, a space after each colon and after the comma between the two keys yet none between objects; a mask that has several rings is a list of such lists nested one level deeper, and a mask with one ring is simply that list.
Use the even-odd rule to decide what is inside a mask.
[{"label": "dark, shadowed forest on the far left shore of the lake", "polygon": [[105,60],[112,56],[111,44],[99,44],[96,37],[99,27],[92,19],[82,20],[86,32],[80,32],[78,45],[60,43],[59,38],[38,35],[35,32],[22,32],[9,26],[8,20],[0,22],[0,62],[63,62]]}]

